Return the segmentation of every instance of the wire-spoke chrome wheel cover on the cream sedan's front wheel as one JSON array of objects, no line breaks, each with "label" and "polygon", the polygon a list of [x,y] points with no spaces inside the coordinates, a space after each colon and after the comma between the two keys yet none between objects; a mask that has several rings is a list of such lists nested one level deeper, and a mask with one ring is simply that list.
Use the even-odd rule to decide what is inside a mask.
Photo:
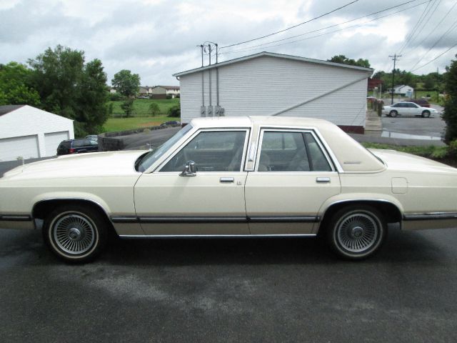
[{"label": "wire-spoke chrome wheel cover on the cream sedan's front wheel", "polygon": [[57,247],[67,254],[84,254],[96,239],[94,223],[74,212],[63,214],[52,225],[52,234]]}]

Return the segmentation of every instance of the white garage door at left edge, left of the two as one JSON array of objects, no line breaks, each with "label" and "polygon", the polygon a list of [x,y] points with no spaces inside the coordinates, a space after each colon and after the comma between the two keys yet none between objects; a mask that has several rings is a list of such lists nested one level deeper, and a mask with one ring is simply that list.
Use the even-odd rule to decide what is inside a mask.
[{"label": "white garage door at left edge, left of the two", "polygon": [[0,139],[0,161],[13,161],[19,156],[24,159],[39,157],[36,134]]}]

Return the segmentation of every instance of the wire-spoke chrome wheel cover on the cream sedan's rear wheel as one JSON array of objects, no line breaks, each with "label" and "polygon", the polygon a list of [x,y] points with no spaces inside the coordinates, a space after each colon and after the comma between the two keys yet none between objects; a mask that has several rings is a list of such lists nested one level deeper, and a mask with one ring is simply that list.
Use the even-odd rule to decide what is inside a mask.
[{"label": "wire-spoke chrome wheel cover on the cream sedan's rear wheel", "polygon": [[366,252],[376,244],[378,237],[379,224],[363,213],[343,217],[336,229],[338,244],[348,252]]}]

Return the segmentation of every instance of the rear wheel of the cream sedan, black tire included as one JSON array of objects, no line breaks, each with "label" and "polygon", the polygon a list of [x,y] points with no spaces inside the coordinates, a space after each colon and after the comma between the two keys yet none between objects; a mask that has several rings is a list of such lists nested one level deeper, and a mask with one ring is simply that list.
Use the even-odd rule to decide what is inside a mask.
[{"label": "rear wheel of the cream sedan, black tire included", "polygon": [[382,246],[387,224],[382,214],[370,206],[348,206],[333,214],[327,239],[333,252],[344,259],[366,259]]}]

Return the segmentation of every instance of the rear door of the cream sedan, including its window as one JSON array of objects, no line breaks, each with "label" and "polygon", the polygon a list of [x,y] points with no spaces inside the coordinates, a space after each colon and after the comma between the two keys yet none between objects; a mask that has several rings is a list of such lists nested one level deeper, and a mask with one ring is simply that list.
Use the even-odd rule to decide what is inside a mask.
[{"label": "rear door of the cream sedan, including its window", "polygon": [[341,192],[338,172],[312,130],[262,129],[246,179],[251,234],[313,234],[319,209]]}]

